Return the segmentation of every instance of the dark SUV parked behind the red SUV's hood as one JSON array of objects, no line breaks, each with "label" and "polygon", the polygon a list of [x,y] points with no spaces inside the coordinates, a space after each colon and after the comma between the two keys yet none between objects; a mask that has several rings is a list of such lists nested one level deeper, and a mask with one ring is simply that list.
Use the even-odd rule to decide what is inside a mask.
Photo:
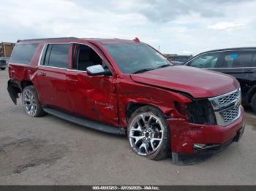
[{"label": "dark SUV parked behind the red SUV's hood", "polygon": [[242,103],[256,112],[256,47],[202,52],[184,64],[236,77],[241,85]]}]

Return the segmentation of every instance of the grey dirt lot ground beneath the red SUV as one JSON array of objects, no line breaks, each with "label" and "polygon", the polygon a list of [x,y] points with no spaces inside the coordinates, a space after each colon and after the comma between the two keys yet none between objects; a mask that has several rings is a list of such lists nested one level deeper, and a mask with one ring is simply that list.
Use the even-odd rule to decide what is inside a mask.
[{"label": "grey dirt lot ground beneath the red SUV", "polygon": [[256,115],[233,143],[197,165],[135,155],[124,137],[57,117],[28,117],[12,104],[0,71],[0,184],[256,184]]}]

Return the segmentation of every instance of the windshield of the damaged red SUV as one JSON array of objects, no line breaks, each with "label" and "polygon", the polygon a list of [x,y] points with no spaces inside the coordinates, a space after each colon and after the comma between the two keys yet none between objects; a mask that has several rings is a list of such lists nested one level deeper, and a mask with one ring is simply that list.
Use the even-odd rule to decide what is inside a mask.
[{"label": "windshield of the damaged red SUV", "polygon": [[167,58],[147,44],[106,44],[104,47],[124,74],[172,66]]}]

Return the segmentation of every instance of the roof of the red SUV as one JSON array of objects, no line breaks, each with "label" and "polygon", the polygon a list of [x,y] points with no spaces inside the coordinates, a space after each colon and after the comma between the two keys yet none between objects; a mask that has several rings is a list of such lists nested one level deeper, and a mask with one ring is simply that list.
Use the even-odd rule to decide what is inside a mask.
[{"label": "roof of the red SUV", "polygon": [[129,44],[135,43],[133,40],[127,39],[100,39],[100,38],[76,38],[76,37],[61,37],[61,38],[45,38],[45,39],[22,39],[17,42],[69,42],[69,41],[87,41],[87,42],[99,42],[101,44]]}]

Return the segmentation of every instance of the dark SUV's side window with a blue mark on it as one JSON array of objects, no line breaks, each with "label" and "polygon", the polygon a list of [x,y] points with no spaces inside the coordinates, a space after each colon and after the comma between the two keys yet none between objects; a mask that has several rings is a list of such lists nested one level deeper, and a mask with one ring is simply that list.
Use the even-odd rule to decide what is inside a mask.
[{"label": "dark SUV's side window with a blue mark on it", "polygon": [[225,53],[222,67],[252,67],[252,51],[230,51]]}]

